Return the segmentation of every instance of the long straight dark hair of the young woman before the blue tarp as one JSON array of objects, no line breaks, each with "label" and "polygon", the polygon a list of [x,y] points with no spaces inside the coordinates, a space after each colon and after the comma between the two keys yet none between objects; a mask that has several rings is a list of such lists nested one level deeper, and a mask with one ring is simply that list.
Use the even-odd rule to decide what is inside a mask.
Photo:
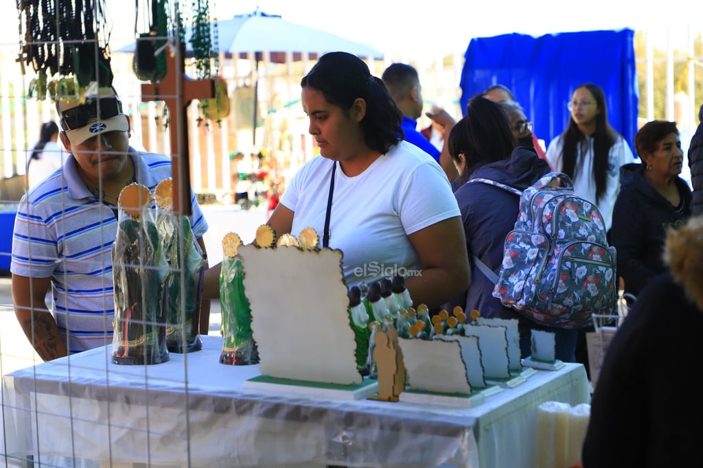
[{"label": "long straight dark hair of the young woman before the blue tarp", "polygon": [[[600,112],[595,115],[595,134],[593,134],[593,180],[595,181],[595,198],[600,200],[600,197],[605,194],[607,188],[607,173],[608,173],[608,155],[610,148],[617,140],[617,133],[608,123],[607,105],[605,104],[605,93],[597,84],[584,83],[576,86],[574,91],[579,88],[586,88],[591,91],[595,98],[595,105],[598,106]],[[573,117],[569,115],[569,124],[562,133],[564,145],[562,147],[562,172],[567,174],[572,179],[576,171],[576,156],[578,154],[579,145],[586,144],[586,135],[584,135]],[[581,174],[585,177],[587,174]]]}]

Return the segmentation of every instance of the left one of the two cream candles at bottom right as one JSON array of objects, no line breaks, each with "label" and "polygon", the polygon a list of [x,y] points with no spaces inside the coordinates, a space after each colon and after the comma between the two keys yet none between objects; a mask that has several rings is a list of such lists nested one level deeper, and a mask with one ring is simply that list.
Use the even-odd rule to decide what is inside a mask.
[{"label": "left one of the two cream candles at bottom right", "polygon": [[563,468],[569,403],[545,401],[537,407],[536,468]]}]

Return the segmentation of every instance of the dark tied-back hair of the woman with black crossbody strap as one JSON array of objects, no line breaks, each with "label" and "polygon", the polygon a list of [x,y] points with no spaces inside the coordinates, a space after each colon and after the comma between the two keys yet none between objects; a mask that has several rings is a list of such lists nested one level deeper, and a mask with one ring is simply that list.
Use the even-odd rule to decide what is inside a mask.
[{"label": "dark tied-back hair of the woman with black crossbody strap", "polygon": [[385,153],[404,138],[403,114],[380,78],[371,75],[361,58],[346,52],[329,52],[321,56],[300,81],[323,93],[328,103],[348,112],[356,98],[366,100],[366,115],[360,122],[364,142],[373,150]]}]

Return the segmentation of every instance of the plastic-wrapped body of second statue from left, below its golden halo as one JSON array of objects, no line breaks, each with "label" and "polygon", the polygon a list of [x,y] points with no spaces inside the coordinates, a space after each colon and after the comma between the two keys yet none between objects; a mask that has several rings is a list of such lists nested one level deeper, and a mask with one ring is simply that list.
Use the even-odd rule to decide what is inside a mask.
[{"label": "plastic-wrapped body of second statue from left, below its golden halo", "polygon": [[[202,251],[193,239],[191,221],[186,216],[160,212],[157,226],[169,264],[165,294],[168,350],[172,353],[199,351],[202,349],[198,330],[202,301]],[[184,260],[181,258],[181,240]]]}]

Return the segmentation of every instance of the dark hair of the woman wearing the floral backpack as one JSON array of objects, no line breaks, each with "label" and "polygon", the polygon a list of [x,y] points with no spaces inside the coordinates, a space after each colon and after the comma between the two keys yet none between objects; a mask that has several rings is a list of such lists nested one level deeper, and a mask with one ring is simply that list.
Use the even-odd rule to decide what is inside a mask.
[{"label": "dark hair of the woman wearing the floral backpack", "polygon": [[449,154],[458,161],[463,153],[468,176],[489,162],[506,160],[517,146],[510,131],[510,120],[498,103],[474,96],[466,106],[466,115],[449,132]]}]

